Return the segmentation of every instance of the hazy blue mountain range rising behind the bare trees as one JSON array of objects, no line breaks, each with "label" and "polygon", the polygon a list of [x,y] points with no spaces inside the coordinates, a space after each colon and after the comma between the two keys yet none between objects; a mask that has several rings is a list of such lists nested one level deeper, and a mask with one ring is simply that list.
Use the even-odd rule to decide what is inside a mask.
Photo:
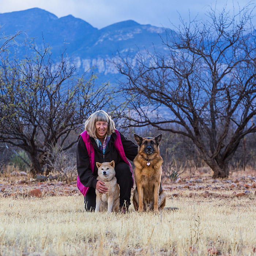
[{"label": "hazy blue mountain range rising behind the bare trees", "polygon": [[43,43],[49,44],[53,57],[60,55],[65,44],[68,56],[80,72],[96,67],[101,81],[113,81],[117,70],[109,60],[117,53],[125,57],[129,52],[134,57],[139,50],[145,54],[146,49],[165,51],[161,39],[166,35],[165,28],[141,25],[133,20],[97,29],[72,15],[58,18],[48,11],[32,8],[0,14],[0,26],[0,33],[5,36],[24,32],[16,40],[20,44],[20,56],[26,54],[22,44],[25,38],[34,38],[38,49]]}]

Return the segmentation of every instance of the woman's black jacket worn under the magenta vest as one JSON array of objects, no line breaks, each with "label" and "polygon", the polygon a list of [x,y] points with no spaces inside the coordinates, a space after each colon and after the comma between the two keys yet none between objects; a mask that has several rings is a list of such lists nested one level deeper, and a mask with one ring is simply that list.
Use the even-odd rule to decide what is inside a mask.
[{"label": "woman's black jacket worn under the magenta vest", "polygon": [[[131,140],[128,140],[121,132],[121,141],[124,147],[124,153],[125,156],[133,161],[133,159],[136,157],[138,153],[138,145],[132,142]],[[116,148],[114,147],[114,142],[116,140],[116,133],[113,133],[110,137],[108,146],[106,148],[106,152],[103,159],[103,153],[101,150],[99,150],[95,140],[93,138],[91,139],[91,142],[93,144],[94,148],[94,161],[103,163],[103,162],[111,162],[112,160],[115,161],[115,164],[119,162],[124,162],[123,159],[118,154]],[[76,166],[78,171],[78,176],[81,181],[81,183],[85,187],[96,187],[97,183],[97,176],[98,176],[98,168],[95,165],[94,166],[94,172],[89,167],[89,156],[87,153],[86,146],[83,142],[82,136],[80,136],[76,148]]]}]

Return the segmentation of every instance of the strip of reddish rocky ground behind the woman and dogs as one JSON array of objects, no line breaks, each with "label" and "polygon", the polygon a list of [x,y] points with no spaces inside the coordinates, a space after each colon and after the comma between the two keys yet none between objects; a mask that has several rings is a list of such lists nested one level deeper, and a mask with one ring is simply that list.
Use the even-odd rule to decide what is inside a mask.
[{"label": "strip of reddish rocky ground behind the woman and dogs", "polygon": [[[210,175],[199,174],[193,178],[179,177],[176,181],[164,180],[162,187],[170,197],[254,197],[256,175],[235,173],[236,177],[213,180]],[[58,176],[29,178],[25,172],[12,172],[0,176],[0,197],[16,196],[77,196],[80,195],[76,181],[58,181]]]}]

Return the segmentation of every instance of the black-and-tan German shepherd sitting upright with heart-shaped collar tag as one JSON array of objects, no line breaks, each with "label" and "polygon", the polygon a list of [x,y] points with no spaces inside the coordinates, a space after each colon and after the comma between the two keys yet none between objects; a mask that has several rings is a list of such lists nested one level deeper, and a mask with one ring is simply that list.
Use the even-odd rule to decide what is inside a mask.
[{"label": "black-and-tan German shepherd sitting upright with heart-shaped collar tag", "polygon": [[165,206],[166,192],[160,191],[162,162],[159,154],[159,144],[162,134],[155,138],[142,138],[134,134],[134,138],[139,145],[138,154],[133,163],[135,165],[136,188],[133,190],[133,206],[139,212],[159,209]]}]

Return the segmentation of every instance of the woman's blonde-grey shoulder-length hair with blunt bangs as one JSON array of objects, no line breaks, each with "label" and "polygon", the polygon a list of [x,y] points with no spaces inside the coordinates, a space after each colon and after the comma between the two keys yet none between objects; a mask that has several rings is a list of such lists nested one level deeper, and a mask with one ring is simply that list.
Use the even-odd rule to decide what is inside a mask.
[{"label": "woman's blonde-grey shoulder-length hair with blunt bangs", "polygon": [[115,132],[116,127],[114,121],[111,119],[108,113],[106,113],[104,110],[98,110],[91,114],[84,123],[84,129],[88,132],[89,136],[93,137],[94,139],[97,138],[95,123],[100,121],[108,123],[108,135]]}]

